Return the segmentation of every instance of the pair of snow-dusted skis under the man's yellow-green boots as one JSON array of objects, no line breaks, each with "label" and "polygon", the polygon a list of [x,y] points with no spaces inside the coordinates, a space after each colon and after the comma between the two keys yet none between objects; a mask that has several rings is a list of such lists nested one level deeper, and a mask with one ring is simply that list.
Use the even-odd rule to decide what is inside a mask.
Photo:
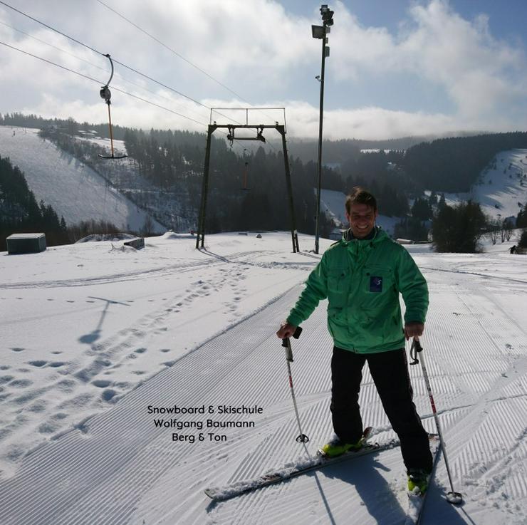
[{"label": "pair of snow-dusted skis under the man's yellow-green boots", "polygon": [[[337,457],[328,457],[320,454],[319,451],[316,456],[298,459],[295,463],[286,464],[280,469],[265,472],[264,474],[252,479],[244,479],[231,484],[226,484],[224,487],[209,487],[205,489],[205,494],[214,501],[225,501],[227,499],[238,497],[241,494],[246,494],[247,492],[253,492],[257,489],[268,487],[269,485],[286,482],[293,477],[298,477],[307,474],[308,472],[328,467],[329,465],[345,462],[367,454],[382,452],[383,450],[394,449],[400,445],[397,440],[391,440],[381,445],[376,442],[367,442],[367,438],[370,436],[371,432],[372,427],[367,427],[362,438],[364,440],[364,445],[358,450],[350,450],[349,452]],[[429,440],[430,449],[434,457],[433,464],[435,469],[437,458],[439,457],[439,450],[441,449],[439,437],[436,434],[430,434]],[[433,476],[433,471],[431,476]],[[405,525],[419,524],[426,494],[427,492],[424,494],[408,492],[408,509]]]}]

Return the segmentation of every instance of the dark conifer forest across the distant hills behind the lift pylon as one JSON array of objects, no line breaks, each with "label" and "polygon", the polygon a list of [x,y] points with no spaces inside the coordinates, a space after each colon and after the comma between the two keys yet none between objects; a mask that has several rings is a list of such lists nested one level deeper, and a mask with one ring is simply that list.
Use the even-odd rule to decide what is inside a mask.
[{"label": "dark conifer forest across the distant hills behind the lift pylon", "polygon": [[[18,113],[0,115],[0,124],[37,126],[41,136],[93,167],[167,228],[184,231],[197,226],[204,133],[116,127],[115,137],[124,141],[128,155],[125,164],[119,164],[101,160],[103,147],[83,139],[80,133],[105,137],[105,125]],[[338,162],[323,167],[322,187],[343,193],[356,185],[366,187],[377,196],[380,213],[402,218],[397,235],[427,239],[440,194],[469,189],[497,152],[527,147],[527,133],[453,137],[401,147],[412,141],[417,139],[325,141],[324,158]],[[366,145],[382,147],[364,148]],[[219,134],[212,137],[207,232],[288,229],[291,223],[281,147],[234,146]],[[317,165],[288,153],[296,227],[313,234]],[[432,190],[430,199],[423,198],[424,189]],[[323,217],[320,235],[329,236],[334,226]]]}]

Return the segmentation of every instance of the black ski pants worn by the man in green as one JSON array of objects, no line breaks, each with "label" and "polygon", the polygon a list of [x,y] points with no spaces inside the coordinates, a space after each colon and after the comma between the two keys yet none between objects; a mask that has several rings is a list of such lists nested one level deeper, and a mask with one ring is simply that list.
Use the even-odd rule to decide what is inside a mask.
[{"label": "black ski pants worn by the man in green", "polygon": [[428,434],[413,402],[405,348],[387,352],[358,354],[333,348],[331,360],[331,415],[339,439],[355,443],[362,435],[359,390],[362,367],[367,361],[382,406],[401,442],[407,469],[432,470]]}]

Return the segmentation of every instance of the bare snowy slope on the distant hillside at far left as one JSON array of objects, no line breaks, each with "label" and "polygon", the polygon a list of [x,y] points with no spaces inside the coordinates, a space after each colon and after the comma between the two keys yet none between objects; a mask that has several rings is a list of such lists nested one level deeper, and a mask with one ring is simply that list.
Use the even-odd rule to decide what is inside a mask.
[{"label": "bare snowy slope on the distant hillside at far left", "polygon": [[[26,176],[37,202],[41,199],[75,224],[94,219],[123,230],[139,231],[147,215],[72,155],[37,135],[38,130],[0,126],[0,155],[10,157]],[[108,161],[112,162],[112,161]],[[166,228],[154,222],[157,232]]]}]

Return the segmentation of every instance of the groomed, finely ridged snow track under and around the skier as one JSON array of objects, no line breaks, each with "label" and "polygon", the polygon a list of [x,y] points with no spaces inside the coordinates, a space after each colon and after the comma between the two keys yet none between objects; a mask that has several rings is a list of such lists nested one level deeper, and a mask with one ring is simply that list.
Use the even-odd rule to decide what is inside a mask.
[{"label": "groomed, finely ridged snow track under and around the skier", "polygon": [[[441,274],[442,272],[438,272]],[[479,523],[492,509],[508,509],[500,491],[527,501],[527,336],[494,301],[491,289],[458,274],[446,283],[427,275],[434,304],[423,339],[432,388],[443,423],[456,489],[469,490],[467,514],[444,503],[447,487],[439,462],[425,517],[432,524]],[[305,453],[288,388],[286,363],[274,336],[298,296],[295,287],[243,323],[177,360],[171,368],[58,439],[34,450],[16,474],[0,483],[2,525],[343,524],[395,525],[405,520],[402,462],[397,450],[313,472],[221,504],[204,487],[253,477]],[[521,293],[526,293],[523,286]],[[493,323],[488,320],[492,316]],[[330,434],[330,348],[325,304],[293,341],[293,379],[310,452]],[[417,409],[434,430],[419,367],[411,367]],[[390,432],[365,370],[360,403],[378,440]],[[252,421],[254,428],[207,429],[226,441],[174,442],[156,428],[156,407],[234,405],[261,415],[186,415],[178,420]],[[174,417],[174,416],[172,416]],[[172,417],[165,417],[170,419]],[[503,430],[503,422],[507,429]],[[510,464],[510,468],[507,465]],[[510,477],[503,477],[503,469]],[[471,506],[471,503],[474,503]],[[516,506],[518,504],[516,503]],[[518,515],[518,509],[516,509]],[[523,514],[519,514],[521,518]],[[433,516],[433,517],[432,517]],[[520,521],[518,521],[520,523]]]}]

